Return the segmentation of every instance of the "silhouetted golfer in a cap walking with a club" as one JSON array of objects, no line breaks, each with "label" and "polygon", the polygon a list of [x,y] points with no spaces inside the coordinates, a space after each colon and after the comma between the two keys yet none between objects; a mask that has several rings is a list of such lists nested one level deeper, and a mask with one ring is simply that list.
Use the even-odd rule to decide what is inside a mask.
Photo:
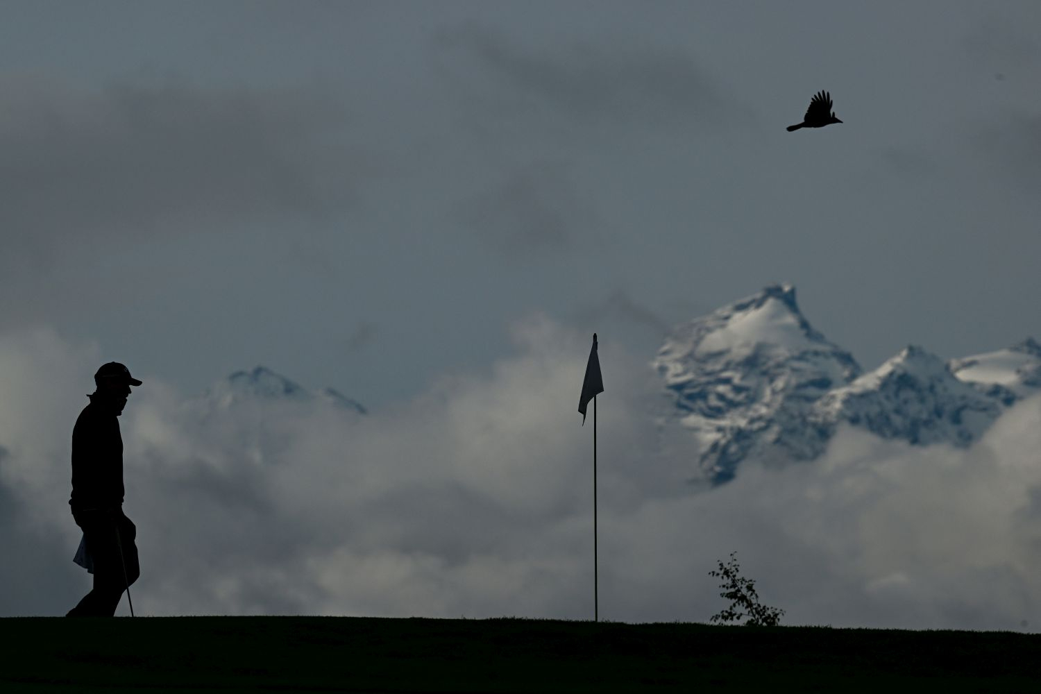
[{"label": "silhouetted golfer in a cap walking with a club", "polygon": [[[110,361],[94,375],[97,386],[87,395],[72,430],[72,516],[83,529],[83,544],[93,561],[94,590],[69,617],[111,617],[127,587],[137,580],[137,530],[123,515],[123,437],[117,419],[126,407],[130,386],[141,381],[126,366]],[[77,555],[79,559],[79,555]],[[90,570],[90,569],[88,569]]]}]

